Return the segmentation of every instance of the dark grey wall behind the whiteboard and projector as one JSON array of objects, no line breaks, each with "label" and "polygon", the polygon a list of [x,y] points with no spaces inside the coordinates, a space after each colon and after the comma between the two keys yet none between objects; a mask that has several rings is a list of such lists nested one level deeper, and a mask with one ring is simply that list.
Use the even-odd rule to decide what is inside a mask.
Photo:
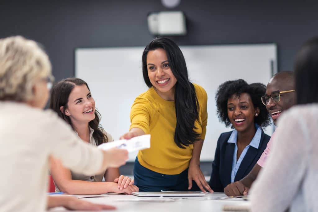
[{"label": "dark grey wall behind the whiteboard and projector", "polygon": [[[279,70],[318,35],[317,1],[181,0],[188,34],[180,45],[277,43]],[[57,79],[74,73],[78,47],[145,46],[147,14],[168,10],[160,0],[1,1],[0,37],[23,35],[44,44]],[[123,61],[124,62],[124,61]]]}]

